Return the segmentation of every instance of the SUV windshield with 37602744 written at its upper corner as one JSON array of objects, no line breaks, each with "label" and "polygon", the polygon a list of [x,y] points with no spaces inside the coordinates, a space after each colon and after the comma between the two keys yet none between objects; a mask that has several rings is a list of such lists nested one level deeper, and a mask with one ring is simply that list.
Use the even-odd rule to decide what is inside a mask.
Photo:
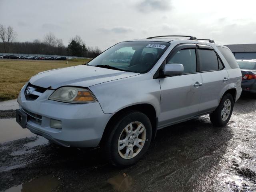
[{"label": "SUV windshield with 37602744 written at its upper corner", "polygon": [[109,48],[88,65],[128,72],[146,73],[170,44],[167,42],[130,41]]}]

